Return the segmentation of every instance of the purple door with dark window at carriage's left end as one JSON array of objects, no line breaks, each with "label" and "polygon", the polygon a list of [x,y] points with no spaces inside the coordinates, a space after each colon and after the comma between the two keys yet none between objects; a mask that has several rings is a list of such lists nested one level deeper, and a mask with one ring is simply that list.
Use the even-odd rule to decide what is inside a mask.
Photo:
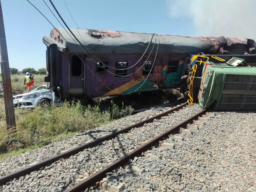
[{"label": "purple door with dark window at carriage's left end", "polygon": [[[82,60],[81,60],[82,59]],[[69,93],[84,93],[84,56],[72,55],[69,62]]]}]

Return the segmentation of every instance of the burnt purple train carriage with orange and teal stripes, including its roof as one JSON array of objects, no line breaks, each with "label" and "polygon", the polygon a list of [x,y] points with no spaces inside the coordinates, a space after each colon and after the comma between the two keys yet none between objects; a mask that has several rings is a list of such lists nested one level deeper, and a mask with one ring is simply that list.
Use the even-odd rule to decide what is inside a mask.
[{"label": "burnt purple train carriage with orange and teal stripes, including its roof", "polygon": [[[191,68],[189,54],[245,58],[256,47],[250,39],[71,30],[81,44],[64,28],[43,37],[46,81],[62,100],[181,87],[181,76]],[[255,55],[247,58],[256,61]]]}]

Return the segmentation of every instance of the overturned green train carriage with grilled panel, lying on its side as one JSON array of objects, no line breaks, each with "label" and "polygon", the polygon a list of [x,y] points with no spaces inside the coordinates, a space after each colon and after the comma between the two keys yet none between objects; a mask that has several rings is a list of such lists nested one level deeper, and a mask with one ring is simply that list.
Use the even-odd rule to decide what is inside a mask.
[{"label": "overturned green train carriage with grilled panel, lying on its side", "polygon": [[243,58],[232,56],[228,60],[223,59],[225,61],[222,62],[208,61],[199,64],[201,67],[198,69],[198,77],[201,82],[197,85],[199,89],[196,94],[202,108],[256,110],[256,68],[250,67],[255,63],[246,62],[254,62],[254,56],[241,57]]}]

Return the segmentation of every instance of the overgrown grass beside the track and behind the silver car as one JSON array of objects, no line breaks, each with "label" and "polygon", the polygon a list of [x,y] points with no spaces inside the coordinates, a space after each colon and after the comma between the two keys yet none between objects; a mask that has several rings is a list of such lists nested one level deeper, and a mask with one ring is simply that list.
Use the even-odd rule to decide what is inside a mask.
[{"label": "overgrown grass beside the track and behind the silver car", "polygon": [[[13,91],[20,88],[21,92],[25,91],[24,80],[21,77],[14,76],[11,79]],[[13,79],[16,79],[15,82]],[[41,84],[44,82],[38,81],[35,87]],[[99,106],[83,106],[80,102],[65,102],[63,107],[58,108],[18,109],[15,110],[16,132],[8,133],[4,101],[0,98],[0,159],[63,140],[79,132],[109,123],[113,119],[129,115],[131,112],[131,107],[119,109],[113,102],[107,111],[102,111]]]}]

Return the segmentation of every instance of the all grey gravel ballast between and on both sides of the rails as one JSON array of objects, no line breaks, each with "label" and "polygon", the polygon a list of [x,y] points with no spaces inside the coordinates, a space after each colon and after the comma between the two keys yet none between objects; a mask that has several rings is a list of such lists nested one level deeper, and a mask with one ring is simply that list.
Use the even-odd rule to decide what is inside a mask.
[{"label": "all grey gravel ballast between and on both sides of the rails", "polygon": [[[197,104],[187,106],[94,148],[58,160],[42,170],[14,179],[0,190],[64,191],[139,147],[140,142],[152,139],[199,111],[201,108]],[[0,174],[13,172],[161,112],[144,111],[104,128],[2,160]],[[205,125],[199,125],[199,130],[193,130],[192,135],[178,134],[183,140],[175,139],[175,135],[163,141],[174,144],[175,149],[164,145],[152,148],[145,157],[136,157],[125,168],[107,174],[103,184],[107,187],[122,186],[119,189],[123,191],[256,191],[254,117],[255,112],[210,112],[209,120]]]}]

